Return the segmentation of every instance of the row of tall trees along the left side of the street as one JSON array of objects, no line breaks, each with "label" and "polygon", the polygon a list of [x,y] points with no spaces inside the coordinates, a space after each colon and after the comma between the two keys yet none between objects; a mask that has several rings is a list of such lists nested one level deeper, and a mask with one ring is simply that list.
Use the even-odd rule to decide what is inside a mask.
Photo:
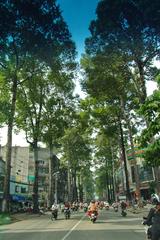
[{"label": "row of tall trees along the left side of the street", "polygon": [[[77,131],[78,106],[78,96],[73,96],[75,44],[56,1],[1,1],[0,32],[0,123],[8,126],[2,210],[9,211],[12,133],[23,130],[34,151],[33,204],[36,212],[39,142],[49,147],[50,159],[53,149],[63,145],[64,158],[68,169],[72,168],[74,179],[77,171],[84,168],[83,161],[89,159],[89,147],[83,136],[72,137]],[[67,131],[69,128],[71,130]],[[61,143],[59,139],[64,135]],[[70,150],[72,141],[80,145],[77,152],[73,152],[73,148]],[[51,160],[49,176],[51,204]]]}]

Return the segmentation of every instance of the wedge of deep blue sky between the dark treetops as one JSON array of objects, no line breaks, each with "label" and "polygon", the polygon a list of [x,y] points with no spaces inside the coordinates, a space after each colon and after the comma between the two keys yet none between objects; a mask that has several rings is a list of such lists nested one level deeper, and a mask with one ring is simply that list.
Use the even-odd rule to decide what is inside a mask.
[{"label": "wedge of deep blue sky between the dark treetops", "polygon": [[57,0],[62,15],[76,43],[79,57],[84,52],[85,38],[90,35],[88,27],[95,19],[95,11],[99,0]]}]

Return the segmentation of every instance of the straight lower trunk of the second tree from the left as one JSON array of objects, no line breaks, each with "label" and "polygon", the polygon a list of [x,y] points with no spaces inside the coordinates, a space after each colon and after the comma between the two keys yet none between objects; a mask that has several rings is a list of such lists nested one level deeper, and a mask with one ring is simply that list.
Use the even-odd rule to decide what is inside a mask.
[{"label": "straight lower trunk of the second tree from the left", "polygon": [[37,141],[34,144],[34,161],[35,161],[35,179],[33,184],[33,212],[38,213],[39,203],[38,203],[38,146]]}]

